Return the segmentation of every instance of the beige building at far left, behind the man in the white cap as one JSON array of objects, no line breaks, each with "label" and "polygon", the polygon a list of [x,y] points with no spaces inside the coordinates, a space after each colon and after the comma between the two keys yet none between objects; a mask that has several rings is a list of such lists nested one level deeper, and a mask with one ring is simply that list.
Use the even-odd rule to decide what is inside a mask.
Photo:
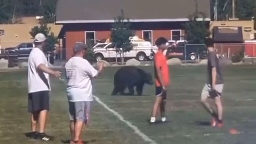
[{"label": "beige building at far left, behind the man in the white cap", "polygon": [[[39,26],[35,17],[23,18],[22,24],[0,25],[0,32],[4,32],[4,35],[0,35],[1,49],[14,47],[24,42],[33,42],[30,31],[37,25]],[[62,25],[48,24],[48,26],[51,27],[50,32],[58,36]]]}]

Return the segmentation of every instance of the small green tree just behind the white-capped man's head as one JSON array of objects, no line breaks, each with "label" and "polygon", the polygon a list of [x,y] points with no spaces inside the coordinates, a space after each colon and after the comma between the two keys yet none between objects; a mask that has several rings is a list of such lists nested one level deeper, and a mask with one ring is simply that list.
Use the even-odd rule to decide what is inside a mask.
[{"label": "small green tree just behind the white-capped man's head", "polygon": [[52,51],[55,44],[57,44],[58,39],[54,33],[50,33],[51,28],[47,27],[47,24],[41,23],[40,26],[35,26],[31,29],[30,35],[34,38],[36,34],[42,33],[45,35],[47,51]]}]

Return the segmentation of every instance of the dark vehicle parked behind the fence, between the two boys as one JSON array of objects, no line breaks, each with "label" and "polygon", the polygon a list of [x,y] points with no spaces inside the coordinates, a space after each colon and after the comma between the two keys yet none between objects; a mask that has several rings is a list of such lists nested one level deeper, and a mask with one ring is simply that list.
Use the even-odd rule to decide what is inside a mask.
[{"label": "dark vehicle parked behind the fence, between the two boys", "polygon": [[[207,48],[205,44],[186,44],[186,60],[196,60],[197,58],[205,59],[207,56]],[[177,45],[169,47],[166,51],[167,59],[179,58],[185,60],[185,45]]]}]

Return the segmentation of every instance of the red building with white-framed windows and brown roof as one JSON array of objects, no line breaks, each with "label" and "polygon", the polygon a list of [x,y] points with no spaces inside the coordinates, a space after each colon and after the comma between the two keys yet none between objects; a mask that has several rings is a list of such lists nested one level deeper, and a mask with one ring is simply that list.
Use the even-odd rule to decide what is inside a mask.
[{"label": "red building with white-framed windows and brown roof", "polygon": [[206,15],[198,20],[210,23],[210,0],[58,0],[55,24],[63,25],[59,38],[69,59],[75,42],[109,39],[114,18],[121,10],[130,19],[135,35],[152,44],[160,36],[182,40],[183,24],[196,11],[196,5]]}]

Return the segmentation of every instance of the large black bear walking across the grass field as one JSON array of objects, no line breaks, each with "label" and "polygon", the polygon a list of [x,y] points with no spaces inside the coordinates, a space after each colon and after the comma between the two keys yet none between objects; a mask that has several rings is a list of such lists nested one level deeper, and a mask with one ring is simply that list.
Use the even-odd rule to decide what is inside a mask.
[{"label": "large black bear walking across the grass field", "polygon": [[[152,75],[135,66],[125,66],[117,70],[114,77],[114,89],[112,95],[134,95],[136,86],[137,95],[142,94],[144,84],[153,84]],[[128,87],[129,93],[125,94],[125,88]]]}]

